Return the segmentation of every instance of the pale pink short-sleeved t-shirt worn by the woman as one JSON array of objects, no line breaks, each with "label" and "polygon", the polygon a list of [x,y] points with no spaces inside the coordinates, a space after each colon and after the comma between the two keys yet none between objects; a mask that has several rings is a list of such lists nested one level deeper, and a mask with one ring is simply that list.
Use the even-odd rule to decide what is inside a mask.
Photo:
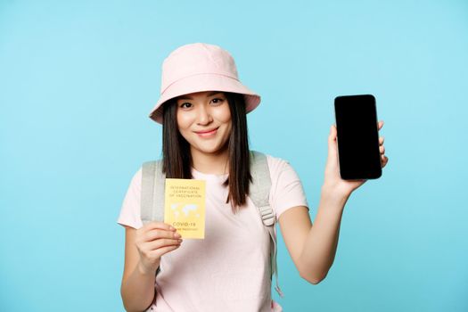
[{"label": "pale pink short-sleeved t-shirt worn by the woman", "polygon": [[[291,165],[267,155],[272,179],[270,205],[276,220],[292,207],[308,202]],[[156,300],[147,311],[282,311],[271,299],[270,237],[259,211],[247,206],[233,214],[226,204],[227,175],[192,170],[206,181],[205,239],[185,239],[177,250],[163,255],[156,277]],[[118,223],[140,228],[141,168],[135,173],[123,201]],[[274,280],[275,281],[275,280]]]}]

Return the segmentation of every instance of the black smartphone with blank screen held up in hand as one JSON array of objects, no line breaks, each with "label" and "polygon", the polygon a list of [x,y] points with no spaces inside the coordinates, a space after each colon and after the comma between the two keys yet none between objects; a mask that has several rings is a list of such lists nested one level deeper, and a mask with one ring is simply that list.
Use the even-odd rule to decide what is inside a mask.
[{"label": "black smartphone with blank screen held up in hand", "polygon": [[382,162],[374,95],[337,96],[334,107],[341,178],[361,180],[381,177]]}]

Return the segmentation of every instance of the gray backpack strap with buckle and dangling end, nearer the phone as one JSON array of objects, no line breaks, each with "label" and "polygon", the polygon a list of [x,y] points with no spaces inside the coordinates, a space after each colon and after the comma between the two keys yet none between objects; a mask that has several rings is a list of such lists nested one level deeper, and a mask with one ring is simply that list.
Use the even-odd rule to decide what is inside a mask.
[{"label": "gray backpack strap with buckle and dangling end, nearer the phone", "polygon": [[283,291],[278,285],[278,267],[276,264],[276,217],[275,212],[270,207],[269,194],[271,188],[270,170],[268,168],[267,156],[261,152],[250,152],[250,174],[252,176],[252,183],[250,184],[250,200],[253,201],[255,206],[259,209],[260,217],[263,224],[267,226],[268,233],[271,238],[271,277],[275,275],[276,286],[275,291],[278,292],[280,297],[283,298]]}]

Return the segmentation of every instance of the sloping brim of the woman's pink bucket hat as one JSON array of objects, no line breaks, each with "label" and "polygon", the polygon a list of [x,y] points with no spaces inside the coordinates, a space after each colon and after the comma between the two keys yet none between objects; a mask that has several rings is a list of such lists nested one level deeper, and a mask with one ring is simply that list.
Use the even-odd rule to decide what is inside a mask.
[{"label": "sloping brim of the woman's pink bucket hat", "polygon": [[177,80],[168,86],[160,95],[158,103],[150,112],[149,117],[162,124],[162,107],[168,100],[184,94],[202,91],[223,91],[243,94],[245,98],[245,111],[255,110],[260,103],[260,95],[243,86],[239,80],[218,74],[198,74]]}]

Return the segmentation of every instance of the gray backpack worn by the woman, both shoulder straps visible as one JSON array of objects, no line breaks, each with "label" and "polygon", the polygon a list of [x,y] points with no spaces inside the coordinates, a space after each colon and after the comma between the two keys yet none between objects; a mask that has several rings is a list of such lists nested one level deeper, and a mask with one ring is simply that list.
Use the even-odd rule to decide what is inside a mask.
[{"label": "gray backpack worn by the woman, both shoulder straps visible", "polygon": [[[275,213],[270,207],[268,197],[271,188],[270,171],[267,156],[261,152],[250,151],[250,200],[259,209],[259,216],[270,234],[270,279],[276,277],[275,291],[283,298],[278,285],[278,268],[276,264],[276,229]],[[164,222],[164,188],[165,174],[162,173],[162,160],[144,162],[142,166],[142,200],[141,218],[144,224],[157,220]],[[157,273],[160,272],[158,267]]]}]

